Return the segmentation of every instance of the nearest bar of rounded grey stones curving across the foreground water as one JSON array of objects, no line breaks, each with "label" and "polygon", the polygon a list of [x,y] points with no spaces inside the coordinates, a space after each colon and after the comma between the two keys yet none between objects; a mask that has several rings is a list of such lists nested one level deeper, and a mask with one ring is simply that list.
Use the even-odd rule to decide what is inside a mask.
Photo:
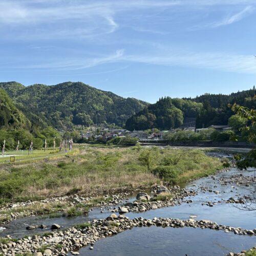
[{"label": "nearest bar of rounded grey stones curving across the foreground water", "polygon": [[[113,236],[126,229],[142,226],[161,226],[161,227],[191,227],[191,228],[209,228],[221,230],[224,232],[233,232],[234,234],[256,236],[256,228],[247,230],[241,227],[230,227],[209,220],[195,219],[180,220],[171,218],[143,219],[142,217],[130,219],[127,216],[112,214],[105,220],[99,219],[84,224],[81,228],[72,227],[67,230],[58,231],[48,236],[37,236],[19,239],[15,242],[9,241],[1,244],[1,252],[4,255],[15,255],[27,251],[35,255],[66,255],[69,251],[72,254],[79,254],[76,250],[83,246],[91,246],[97,240]],[[44,246],[46,245],[46,246]]]}]

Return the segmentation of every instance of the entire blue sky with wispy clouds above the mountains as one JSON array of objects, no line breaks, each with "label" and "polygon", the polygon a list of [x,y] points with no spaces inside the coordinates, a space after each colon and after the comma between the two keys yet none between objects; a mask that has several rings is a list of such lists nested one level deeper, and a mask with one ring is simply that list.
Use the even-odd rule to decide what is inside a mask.
[{"label": "entire blue sky with wispy clouds above the mountains", "polygon": [[247,90],[255,24],[255,0],[0,0],[0,81],[148,102]]}]

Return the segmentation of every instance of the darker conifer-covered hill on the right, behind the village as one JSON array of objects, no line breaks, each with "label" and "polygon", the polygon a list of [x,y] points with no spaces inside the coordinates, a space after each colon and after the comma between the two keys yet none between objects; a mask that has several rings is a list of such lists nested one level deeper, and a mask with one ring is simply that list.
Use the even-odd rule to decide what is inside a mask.
[{"label": "darker conifer-covered hill on the right, behind the village", "polygon": [[227,124],[234,113],[228,103],[237,103],[248,108],[255,108],[255,88],[247,91],[223,94],[204,94],[196,98],[159,99],[155,104],[148,105],[126,121],[129,130],[146,130],[157,127],[161,130],[180,127],[185,117],[196,117],[197,128],[212,124]]}]

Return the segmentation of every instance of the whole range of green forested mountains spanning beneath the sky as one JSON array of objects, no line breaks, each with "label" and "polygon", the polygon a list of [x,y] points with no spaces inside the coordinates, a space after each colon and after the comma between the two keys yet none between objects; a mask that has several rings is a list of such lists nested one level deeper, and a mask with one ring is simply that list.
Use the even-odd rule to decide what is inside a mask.
[{"label": "whole range of green forested mountains spanning beneath the sky", "polygon": [[[122,98],[82,82],[64,82],[56,86],[34,84],[25,87],[17,82],[0,83],[0,124],[7,128],[30,127],[30,131],[53,126],[58,130],[73,129],[74,125],[126,122],[129,130],[161,130],[180,127],[184,118],[196,118],[196,126],[227,124],[233,115],[228,103],[255,108],[252,97],[255,88],[222,94],[204,94],[196,98],[159,99],[148,104],[134,98]],[[29,121],[28,121],[29,120]]]}]

